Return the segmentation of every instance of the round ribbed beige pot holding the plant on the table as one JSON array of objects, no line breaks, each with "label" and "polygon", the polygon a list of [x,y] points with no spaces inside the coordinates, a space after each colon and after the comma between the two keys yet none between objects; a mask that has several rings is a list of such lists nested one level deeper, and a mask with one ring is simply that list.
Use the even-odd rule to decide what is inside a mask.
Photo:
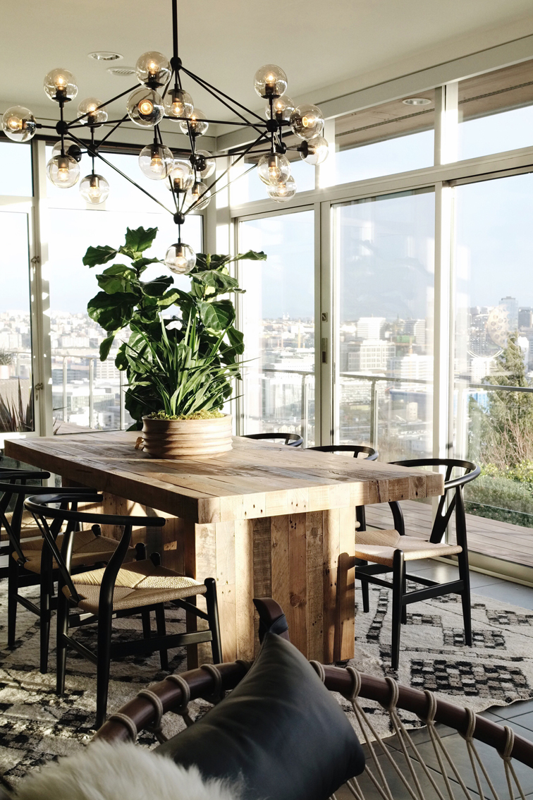
[{"label": "round ribbed beige pot holding the plant on the table", "polygon": [[231,414],[215,419],[143,417],[142,440],[151,458],[212,458],[232,449]]}]

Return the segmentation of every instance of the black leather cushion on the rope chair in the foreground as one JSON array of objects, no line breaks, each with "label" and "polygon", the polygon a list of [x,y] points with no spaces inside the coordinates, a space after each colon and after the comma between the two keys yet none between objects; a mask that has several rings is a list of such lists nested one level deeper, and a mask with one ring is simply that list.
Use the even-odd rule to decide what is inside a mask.
[{"label": "black leather cushion on the rope chair in the foreground", "polygon": [[273,633],[237,688],[157,752],[196,764],[206,778],[242,778],[243,800],[327,800],[364,770],[339,703],[300,651]]}]

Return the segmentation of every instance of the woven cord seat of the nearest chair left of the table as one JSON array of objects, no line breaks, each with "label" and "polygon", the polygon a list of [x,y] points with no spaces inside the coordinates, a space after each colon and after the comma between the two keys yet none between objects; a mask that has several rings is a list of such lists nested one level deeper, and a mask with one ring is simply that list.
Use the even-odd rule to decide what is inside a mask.
[{"label": "woven cord seat of the nearest chair left of the table", "polygon": [[[103,569],[90,570],[74,575],[72,580],[80,601],[79,608],[98,613],[101,580]],[[120,611],[139,606],[168,602],[170,600],[184,600],[194,594],[205,594],[204,583],[199,583],[193,578],[186,578],[164,566],[155,566],[147,558],[145,561],[134,561],[118,570],[117,581],[113,591],[113,611]],[[70,590],[63,588],[66,597],[70,598]]]}]

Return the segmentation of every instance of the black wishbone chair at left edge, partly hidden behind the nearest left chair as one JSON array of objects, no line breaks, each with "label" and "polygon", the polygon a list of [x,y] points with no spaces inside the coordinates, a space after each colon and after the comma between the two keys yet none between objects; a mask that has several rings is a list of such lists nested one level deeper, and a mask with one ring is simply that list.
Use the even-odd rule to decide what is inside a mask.
[{"label": "black wishbone chair at left edge, partly hidden behind the nearest left chair", "polygon": [[[50,619],[51,613],[57,607],[57,598],[54,594],[54,582],[58,580],[58,565],[54,563],[50,549],[45,545],[41,530],[30,514],[33,527],[26,521],[26,526],[22,528],[22,519],[27,517],[29,512],[24,509],[24,501],[28,496],[38,497],[48,496],[54,491],[50,486],[27,486],[26,479],[31,478],[50,478],[47,472],[27,473],[12,475],[9,483],[0,482],[0,522],[6,530],[8,538],[8,551],[10,554],[7,566],[8,589],[7,589],[7,643],[14,647],[16,643],[17,626],[17,606],[20,604],[26,610],[35,614],[39,618],[41,634],[40,663],[39,669],[44,674],[48,671],[48,648],[50,638]],[[4,477],[3,475],[0,477]],[[7,477],[7,476],[5,476]],[[22,481],[17,483],[16,481]],[[96,494],[93,489],[85,488],[62,488],[55,490],[58,498],[61,498],[63,507],[71,506],[73,510],[78,508],[78,502],[101,502],[101,495]],[[6,508],[14,500],[14,510],[12,514],[6,514]],[[59,500],[58,500],[59,502]],[[58,546],[62,545],[61,525],[54,529],[54,538],[57,538]],[[26,534],[30,531],[34,538],[22,538],[21,530]],[[38,538],[35,538],[38,537]],[[92,569],[97,563],[109,561],[110,555],[117,547],[115,539],[101,536],[98,526],[93,526],[91,530],[77,530],[72,538],[72,566],[75,571]],[[135,551],[130,551],[133,558]],[[23,586],[40,586],[39,605],[37,606],[25,595],[20,594],[19,590]]]}]

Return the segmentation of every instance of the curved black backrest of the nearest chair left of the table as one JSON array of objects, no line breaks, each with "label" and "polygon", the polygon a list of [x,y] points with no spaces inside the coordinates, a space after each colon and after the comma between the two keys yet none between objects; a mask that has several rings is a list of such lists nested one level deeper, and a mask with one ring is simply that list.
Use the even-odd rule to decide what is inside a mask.
[{"label": "curved black backrest of the nearest chair left of the table", "polygon": [[[60,489],[54,493],[49,490],[48,494],[37,494],[28,498],[24,503],[24,507],[33,514],[34,520],[37,522],[39,530],[41,530],[42,536],[48,545],[50,554],[58,564],[62,581],[68,586],[70,594],[76,602],[79,600],[79,595],[70,577],[70,554],[72,552],[74,530],[84,522],[90,525],[124,526],[121,539],[117,543],[117,548],[113,551],[111,558],[109,558],[101,581],[100,597],[103,597],[109,605],[113,602],[115,581],[117,580],[118,570],[120,570],[128,552],[133,526],[161,527],[165,525],[166,520],[162,517],[119,516],[118,514],[97,514],[90,511],[78,511],[78,502],[101,502],[101,500],[101,494],[96,494],[94,491],[90,494],[90,491],[77,492],[76,490],[71,490],[70,492],[65,492],[65,490]],[[68,507],[69,505],[70,508]],[[50,519],[53,520],[52,525],[49,524]],[[67,526],[60,552],[56,539],[64,522],[67,523]]]}]

